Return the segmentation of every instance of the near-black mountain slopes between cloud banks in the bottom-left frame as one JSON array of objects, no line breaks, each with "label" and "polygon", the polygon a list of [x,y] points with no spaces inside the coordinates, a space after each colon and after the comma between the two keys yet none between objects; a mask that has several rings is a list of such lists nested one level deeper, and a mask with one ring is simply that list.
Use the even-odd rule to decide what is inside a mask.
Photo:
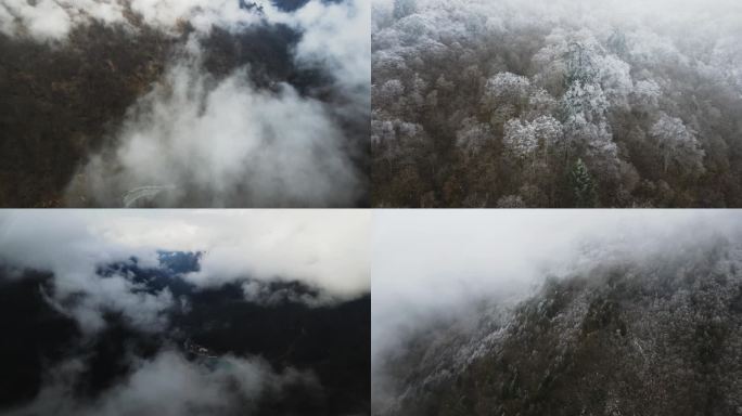
[{"label": "near-black mountain slopes between cloud banks in the bottom-left frame", "polygon": [[[247,277],[200,288],[186,274],[200,270],[201,257],[201,252],[159,251],[155,266],[132,257],[98,268],[102,284],[126,276],[133,292],[172,297],[171,307],[161,314],[165,327],[156,332],[143,329],[112,308],[104,310],[103,328],[86,334],[66,312],[86,302],[85,296],[57,303],[52,300],[57,290],[52,274],[0,269],[0,332],[5,335],[0,342],[0,413],[47,400],[39,393],[47,391],[50,377],[65,362],[79,363],[80,368],[65,402],[91,403],[131,386],[142,362],[157,363],[163,353],[184,358],[207,379],[229,373],[229,366],[239,364],[234,358],[259,358],[284,378],[291,372],[316,377],[311,384],[289,377],[280,393],[266,387],[251,400],[255,414],[370,413],[370,295],[308,303],[307,299],[319,296],[318,289],[295,281],[259,282],[263,294],[282,294],[264,301],[245,296],[243,285],[258,282]],[[227,391],[235,388],[226,387]]]}]

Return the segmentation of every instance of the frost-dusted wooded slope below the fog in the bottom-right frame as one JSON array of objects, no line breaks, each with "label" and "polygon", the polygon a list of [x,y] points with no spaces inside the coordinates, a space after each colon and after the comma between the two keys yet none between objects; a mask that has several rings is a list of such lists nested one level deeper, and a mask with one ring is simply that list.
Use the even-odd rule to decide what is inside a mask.
[{"label": "frost-dusted wooded slope below the fog in the bottom-right frame", "polygon": [[[596,265],[597,264],[597,265]],[[603,261],[420,326],[378,415],[739,415],[742,247]]]}]

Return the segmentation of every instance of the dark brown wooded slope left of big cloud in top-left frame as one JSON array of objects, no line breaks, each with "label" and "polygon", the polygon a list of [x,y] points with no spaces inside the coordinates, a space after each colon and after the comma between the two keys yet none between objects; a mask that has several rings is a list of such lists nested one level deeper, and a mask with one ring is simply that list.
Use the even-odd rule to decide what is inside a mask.
[{"label": "dark brown wooded slope left of big cloud in top-left frame", "polygon": [[172,39],[80,26],[54,46],[0,34],[0,206],[55,207],[77,164],[163,73]]}]

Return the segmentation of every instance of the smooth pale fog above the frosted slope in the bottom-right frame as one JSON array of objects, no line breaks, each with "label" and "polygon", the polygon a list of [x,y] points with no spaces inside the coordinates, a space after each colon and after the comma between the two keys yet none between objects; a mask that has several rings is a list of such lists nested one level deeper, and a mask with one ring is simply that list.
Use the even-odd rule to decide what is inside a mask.
[{"label": "smooth pale fog above the frosted slope in the bottom-right frame", "polygon": [[739,242],[742,217],[663,210],[376,211],[372,235],[372,373],[374,399],[383,400],[389,385],[380,363],[404,350],[425,325],[466,316],[482,303],[507,309],[549,277],[671,257],[719,237]]}]

